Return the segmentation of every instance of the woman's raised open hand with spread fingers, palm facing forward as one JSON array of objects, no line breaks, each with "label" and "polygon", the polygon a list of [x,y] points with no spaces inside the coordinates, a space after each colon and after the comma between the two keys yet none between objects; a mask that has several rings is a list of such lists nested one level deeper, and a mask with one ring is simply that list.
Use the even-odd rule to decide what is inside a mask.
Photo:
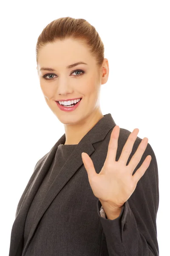
[{"label": "woman's raised open hand with spread fingers, palm facing forward", "polygon": [[88,154],[85,152],[82,153],[82,161],[88,173],[88,180],[94,195],[101,202],[105,202],[115,209],[122,207],[128,198],[130,198],[139,179],[144,175],[151,161],[151,156],[147,155],[142,165],[132,175],[147,147],[148,139],[144,137],[129,164],[126,166],[133,144],[139,133],[138,128],[135,128],[130,133],[119,160],[116,161],[119,131],[120,128],[116,125],[111,133],[107,157],[99,174],[96,173],[93,161]]}]

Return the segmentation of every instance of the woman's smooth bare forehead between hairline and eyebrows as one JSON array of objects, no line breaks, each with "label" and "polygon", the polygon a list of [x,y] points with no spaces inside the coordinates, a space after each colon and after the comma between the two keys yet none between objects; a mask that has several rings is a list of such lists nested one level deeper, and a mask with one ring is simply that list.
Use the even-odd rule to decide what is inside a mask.
[{"label": "woman's smooth bare forehead between hairline and eyebrows", "polygon": [[66,67],[79,60],[95,64],[95,59],[91,56],[88,47],[82,41],[71,38],[48,43],[38,52],[40,66],[51,66],[55,63],[57,66]]}]

